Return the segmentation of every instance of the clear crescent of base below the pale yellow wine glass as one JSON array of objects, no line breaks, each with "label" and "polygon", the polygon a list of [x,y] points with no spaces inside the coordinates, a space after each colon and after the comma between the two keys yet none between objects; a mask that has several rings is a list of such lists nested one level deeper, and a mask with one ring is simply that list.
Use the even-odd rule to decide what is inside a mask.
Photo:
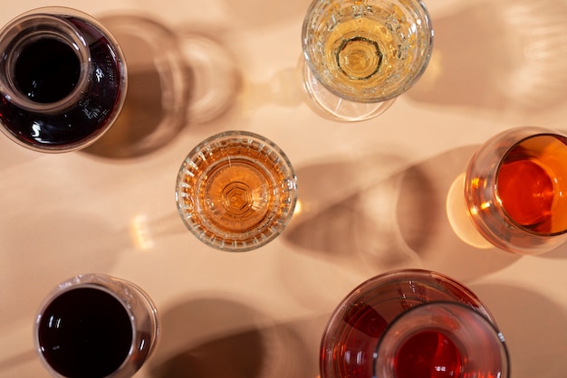
[{"label": "clear crescent of base below the pale yellow wine glass", "polygon": [[382,102],[356,102],[333,94],[315,78],[307,62],[300,59],[299,69],[309,102],[308,105],[323,117],[344,122],[357,122],[374,118],[382,114],[396,100],[388,99]]}]

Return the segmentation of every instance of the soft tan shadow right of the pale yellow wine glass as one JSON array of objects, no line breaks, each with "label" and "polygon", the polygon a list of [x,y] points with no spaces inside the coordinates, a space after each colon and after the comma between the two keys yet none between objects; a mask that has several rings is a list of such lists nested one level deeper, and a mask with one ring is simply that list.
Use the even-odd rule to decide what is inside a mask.
[{"label": "soft tan shadow right of the pale yellow wine glass", "polygon": [[524,119],[562,106],[567,90],[567,3],[484,0],[433,20],[428,70],[404,98],[509,111]]}]

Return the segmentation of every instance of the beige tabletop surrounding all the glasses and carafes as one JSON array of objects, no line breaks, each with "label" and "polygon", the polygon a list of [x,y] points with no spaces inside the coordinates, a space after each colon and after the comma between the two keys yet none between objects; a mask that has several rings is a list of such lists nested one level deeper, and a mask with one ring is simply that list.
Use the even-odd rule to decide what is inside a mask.
[{"label": "beige tabletop surrounding all the glasses and carafes", "polygon": [[[470,247],[452,232],[445,197],[487,137],[565,128],[567,2],[429,3],[436,44],[425,76],[379,118],[346,124],[315,114],[293,79],[307,0],[60,1],[202,34],[216,43],[210,52],[234,57],[239,86],[225,113],[188,119],[136,158],[43,155],[0,136],[0,377],[47,376],[34,354],[36,308],[63,279],[103,272],[138,283],[159,307],[162,338],[140,378],[314,378],[332,309],[399,268],[472,288],[507,338],[514,378],[564,377],[567,246],[539,257]],[[52,4],[5,1],[0,24]],[[242,254],[197,241],[173,193],[188,150],[228,129],[274,140],[298,176],[301,212]]]}]

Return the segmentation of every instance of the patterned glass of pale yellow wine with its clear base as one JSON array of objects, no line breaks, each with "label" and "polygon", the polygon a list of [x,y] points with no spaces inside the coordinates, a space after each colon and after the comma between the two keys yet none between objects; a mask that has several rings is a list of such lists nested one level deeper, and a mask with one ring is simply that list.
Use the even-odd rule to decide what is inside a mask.
[{"label": "patterned glass of pale yellow wine with its clear base", "polygon": [[323,115],[380,115],[426,70],[433,47],[419,0],[314,0],[303,21],[303,88]]}]

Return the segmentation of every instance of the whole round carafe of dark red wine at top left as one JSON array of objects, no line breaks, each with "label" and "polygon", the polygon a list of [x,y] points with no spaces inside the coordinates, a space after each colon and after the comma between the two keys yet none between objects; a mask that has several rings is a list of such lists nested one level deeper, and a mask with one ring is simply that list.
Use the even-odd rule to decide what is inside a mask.
[{"label": "whole round carafe of dark red wine at top left", "polygon": [[126,63],[89,14],[44,7],[0,31],[0,129],[41,152],[91,145],[120,114]]}]

